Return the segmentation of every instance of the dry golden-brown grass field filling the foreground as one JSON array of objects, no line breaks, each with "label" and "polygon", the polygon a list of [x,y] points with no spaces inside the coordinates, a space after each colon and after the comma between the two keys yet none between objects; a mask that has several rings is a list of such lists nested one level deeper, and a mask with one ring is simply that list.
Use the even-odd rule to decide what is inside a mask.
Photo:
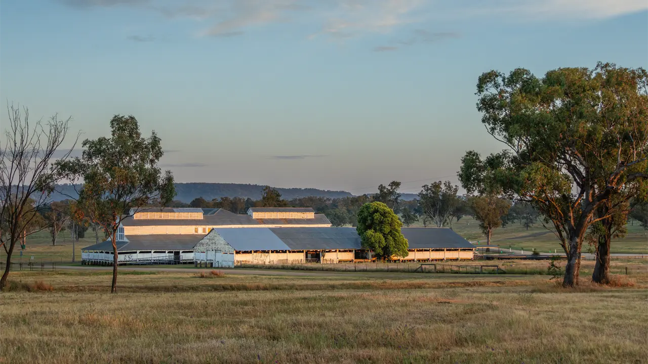
[{"label": "dry golden-brown grass field filling the foreground", "polygon": [[0,363],[640,363],[648,269],[625,264],[625,287],[575,291],[546,275],[124,268],[110,295],[109,271],[14,272]]}]

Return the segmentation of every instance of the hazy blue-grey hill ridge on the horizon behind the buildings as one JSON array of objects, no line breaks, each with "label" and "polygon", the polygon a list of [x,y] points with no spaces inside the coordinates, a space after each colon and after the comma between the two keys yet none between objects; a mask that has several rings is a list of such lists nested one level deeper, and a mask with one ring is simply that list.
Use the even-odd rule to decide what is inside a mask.
[{"label": "hazy blue-grey hill ridge on the horizon behind the buildings", "polygon": [[[52,193],[52,201],[62,201],[68,198],[77,198],[75,191],[81,189],[81,185],[58,185],[56,192]],[[194,198],[202,197],[207,201],[222,197],[242,197],[260,199],[261,190],[264,185],[246,185],[243,183],[176,183],[176,198],[179,201],[189,203]],[[344,198],[353,196],[346,191],[318,190],[317,188],[275,188],[283,199],[294,199],[308,196],[325,198]]]}]

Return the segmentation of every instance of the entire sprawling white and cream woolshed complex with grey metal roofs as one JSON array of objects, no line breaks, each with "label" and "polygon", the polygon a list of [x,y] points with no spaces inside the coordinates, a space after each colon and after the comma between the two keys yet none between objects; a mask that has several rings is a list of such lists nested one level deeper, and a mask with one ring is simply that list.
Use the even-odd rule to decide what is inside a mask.
[{"label": "entire sprawling white and cream woolshed complex with grey metal roofs", "polygon": [[[123,229],[123,230],[122,230]],[[472,259],[474,246],[450,229],[403,228],[409,255],[403,261]],[[119,264],[235,264],[369,261],[351,227],[331,227],[312,209],[148,209],[124,218]],[[82,264],[110,265],[110,240],[82,249]]]}]

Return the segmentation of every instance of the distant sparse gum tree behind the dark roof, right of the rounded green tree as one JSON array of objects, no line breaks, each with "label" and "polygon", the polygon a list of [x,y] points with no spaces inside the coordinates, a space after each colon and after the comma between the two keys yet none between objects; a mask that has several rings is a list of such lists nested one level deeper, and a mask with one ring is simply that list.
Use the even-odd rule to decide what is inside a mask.
[{"label": "distant sparse gum tree behind the dark roof, right of the rounded green tree", "polygon": [[459,204],[458,190],[459,187],[453,186],[450,181],[438,181],[424,185],[419,192],[419,206],[437,227],[446,224],[452,227],[453,214]]}]

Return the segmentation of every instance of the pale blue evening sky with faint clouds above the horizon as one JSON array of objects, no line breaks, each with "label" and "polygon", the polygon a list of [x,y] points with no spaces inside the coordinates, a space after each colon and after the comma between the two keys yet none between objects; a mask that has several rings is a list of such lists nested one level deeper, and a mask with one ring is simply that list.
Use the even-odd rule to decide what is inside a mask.
[{"label": "pale blue evening sky with faint clouds above the horizon", "polygon": [[0,99],[81,140],[134,115],[178,182],[417,193],[503,148],[481,73],[648,67],[646,24],[648,0],[3,0]]}]

